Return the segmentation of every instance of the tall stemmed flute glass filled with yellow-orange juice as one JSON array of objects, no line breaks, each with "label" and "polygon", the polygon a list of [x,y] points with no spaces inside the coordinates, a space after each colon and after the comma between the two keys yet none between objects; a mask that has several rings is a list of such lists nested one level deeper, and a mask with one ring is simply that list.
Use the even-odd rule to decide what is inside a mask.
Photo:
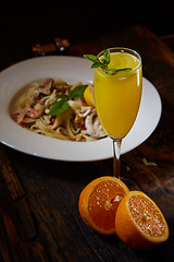
[{"label": "tall stemmed flute glass filled with yellow-orange juice", "polygon": [[[142,67],[140,56],[132,49],[114,47],[109,50],[108,69],[117,69],[119,73],[109,75],[101,68],[95,69],[95,104],[101,126],[113,140],[113,176],[122,179],[121,144],[138,114],[142,90]],[[100,61],[103,61],[103,55],[104,50],[97,56]]]}]

